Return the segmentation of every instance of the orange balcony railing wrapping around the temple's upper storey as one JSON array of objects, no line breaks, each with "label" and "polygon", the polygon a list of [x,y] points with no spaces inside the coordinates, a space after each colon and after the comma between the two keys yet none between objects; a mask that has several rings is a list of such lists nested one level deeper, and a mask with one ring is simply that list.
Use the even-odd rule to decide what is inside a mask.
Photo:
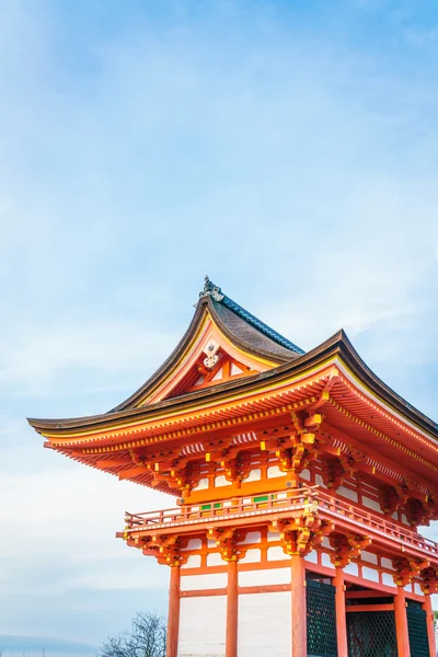
[{"label": "orange balcony railing wrapping around the temple's upper storey", "polygon": [[392,522],[383,515],[379,516],[359,508],[350,502],[334,497],[319,486],[283,489],[266,495],[221,502],[183,505],[162,511],[126,514],[125,535],[162,529],[175,531],[178,527],[226,523],[230,520],[233,522],[243,520],[245,523],[254,525],[257,520],[262,522],[263,518],[268,520],[269,516],[299,517],[304,511],[313,511],[321,518],[332,520],[337,529],[364,533],[373,538],[374,541],[395,542],[399,543],[402,551],[411,549],[420,552],[425,557],[438,558],[438,543],[435,541],[430,541],[400,523]]}]

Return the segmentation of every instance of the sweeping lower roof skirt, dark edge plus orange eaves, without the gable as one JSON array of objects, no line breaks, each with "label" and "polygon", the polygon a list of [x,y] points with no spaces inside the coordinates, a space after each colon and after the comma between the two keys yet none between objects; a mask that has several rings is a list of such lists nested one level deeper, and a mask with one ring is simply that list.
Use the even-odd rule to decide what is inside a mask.
[{"label": "sweeping lower roof skirt, dark edge plus orange eaves, without the gable", "polygon": [[[328,425],[371,446],[383,460],[401,464],[404,471],[436,485],[435,423],[382,383],[343,333],[291,364],[237,382],[137,410],[72,420],[30,422],[48,438],[47,447],[106,470],[106,456],[135,450],[149,458],[149,452],[164,446],[200,449],[204,442],[220,436],[287,422],[292,412],[314,407],[324,391],[328,391],[328,397],[320,412]],[[129,468],[122,464],[107,471],[120,474]],[[148,474],[132,481],[150,485]]]}]

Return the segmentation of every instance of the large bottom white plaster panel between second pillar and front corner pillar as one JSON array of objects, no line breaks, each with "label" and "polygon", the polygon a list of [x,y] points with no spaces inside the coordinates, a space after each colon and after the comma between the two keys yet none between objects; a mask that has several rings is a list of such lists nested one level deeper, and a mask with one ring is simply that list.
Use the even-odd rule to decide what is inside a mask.
[{"label": "large bottom white plaster panel between second pillar and front corner pillar", "polygon": [[238,657],[290,657],[290,601],[289,591],[239,596]]}]

